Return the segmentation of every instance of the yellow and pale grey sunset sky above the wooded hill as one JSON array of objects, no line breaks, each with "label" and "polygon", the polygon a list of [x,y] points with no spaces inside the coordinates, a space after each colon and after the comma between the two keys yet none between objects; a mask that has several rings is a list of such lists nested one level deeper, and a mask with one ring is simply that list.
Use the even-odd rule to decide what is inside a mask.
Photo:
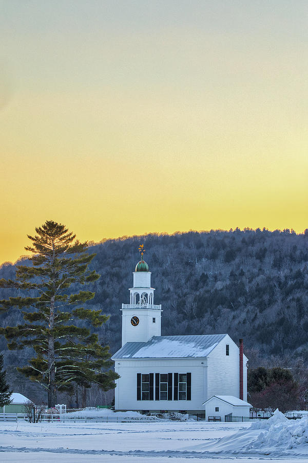
[{"label": "yellow and pale grey sunset sky above the wooded hill", "polygon": [[0,263],[81,240],[308,227],[308,3],[0,0]]}]

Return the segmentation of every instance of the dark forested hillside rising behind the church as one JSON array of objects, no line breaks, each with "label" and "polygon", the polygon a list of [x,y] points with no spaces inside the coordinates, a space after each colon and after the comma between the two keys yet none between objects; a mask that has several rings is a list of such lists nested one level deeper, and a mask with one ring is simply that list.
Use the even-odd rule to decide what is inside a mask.
[{"label": "dark forested hillside rising behind the church", "polygon": [[[154,302],[163,308],[162,334],[228,333],[235,341],[243,337],[254,359],[308,358],[308,230],[191,231],[91,245],[97,253],[91,268],[101,278],[89,288],[95,297],[86,307],[110,315],[99,335],[111,353],[121,345],[120,308],[129,302],[140,243]],[[0,278],[14,278],[14,265],[3,264]],[[0,299],[9,295],[1,290]],[[0,313],[1,326],[22,322],[21,310]],[[31,351],[8,351],[4,337],[0,348],[13,380],[12,366],[25,364]],[[16,379],[16,385],[25,382]]]}]

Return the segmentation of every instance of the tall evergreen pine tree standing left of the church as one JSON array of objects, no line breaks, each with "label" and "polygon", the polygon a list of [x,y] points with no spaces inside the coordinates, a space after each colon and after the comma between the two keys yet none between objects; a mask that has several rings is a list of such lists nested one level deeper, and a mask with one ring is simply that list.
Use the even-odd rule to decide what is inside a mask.
[{"label": "tall evergreen pine tree standing left of the church", "polygon": [[[48,406],[56,403],[57,390],[69,390],[72,383],[89,387],[97,383],[104,390],[114,387],[118,375],[108,370],[109,347],[99,344],[80,320],[99,327],[108,319],[101,310],[80,307],[94,297],[90,291],[68,294],[69,287],[83,285],[100,276],[88,270],[94,254],[87,254],[87,242],[81,243],[65,225],[46,221],[29,236],[32,265],[18,265],[15,280],[0,280],[0,288],[21,290],[27,296],[0,301],[0,308],[23,308],[26,323],[3,328],[9,349],[33,347],[35,357],[18,371],[48,390]],[[69,306],[78,306],[68,310]]]}]

